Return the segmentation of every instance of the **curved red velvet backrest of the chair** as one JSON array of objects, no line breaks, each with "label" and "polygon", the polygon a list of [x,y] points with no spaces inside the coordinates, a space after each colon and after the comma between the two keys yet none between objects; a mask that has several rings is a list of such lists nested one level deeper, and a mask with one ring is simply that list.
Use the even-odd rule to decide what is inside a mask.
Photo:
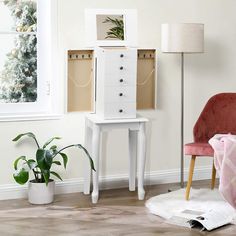
[{"label": "curved red velvet backrest of the chair", "polygon": [[194,128],[195,142],[208,142],[215,134],[236,134],[236,93],[211,97]]}]

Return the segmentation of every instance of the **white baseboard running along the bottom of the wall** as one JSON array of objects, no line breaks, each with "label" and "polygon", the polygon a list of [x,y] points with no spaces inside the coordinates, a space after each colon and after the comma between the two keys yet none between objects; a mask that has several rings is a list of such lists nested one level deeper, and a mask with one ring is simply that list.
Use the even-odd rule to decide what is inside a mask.
[{"label": "white baseboard running along the bottom of the wall", "polygon": [[[194,180],[211,178],[211,166],[198,167],[194,170]],[[184,171],[187,180],[188,170]],[[179,169],[152,171],[145,173],[145,185],[179,182]],[[83,192],[83,178],[67,179],[56,182],[56,194]],[[115,189],[128,187],[128,175],[109,175],[100,177],[100,189]],[[0,200],[18,199],[27,197],[27,185],[17,184],[0,185]]]}]

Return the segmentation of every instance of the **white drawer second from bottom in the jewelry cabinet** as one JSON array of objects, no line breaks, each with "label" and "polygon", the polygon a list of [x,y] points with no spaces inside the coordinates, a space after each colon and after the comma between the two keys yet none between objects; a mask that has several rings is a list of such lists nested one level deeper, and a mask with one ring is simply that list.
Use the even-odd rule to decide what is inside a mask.
[{"label": "white drawer second from bottom in the jewelry cabinet", "polygon": [[105,102],[135,102],[136,87],[105,87],[104,99]]}]

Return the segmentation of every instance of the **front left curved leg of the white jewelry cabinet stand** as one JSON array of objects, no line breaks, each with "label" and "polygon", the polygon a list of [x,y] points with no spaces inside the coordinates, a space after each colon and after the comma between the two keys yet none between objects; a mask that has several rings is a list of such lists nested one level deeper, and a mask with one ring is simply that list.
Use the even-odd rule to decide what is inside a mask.
[{"label": "front left curved leg of the white jewelry cabinet stand", "polygon": [[97,203],[99,195],[99,147],[100,147],[100,127],[98,125],[93,126],[92,137],[92,158],[94,161],[95,172],[93,171],[93,192],[92,203]]}]

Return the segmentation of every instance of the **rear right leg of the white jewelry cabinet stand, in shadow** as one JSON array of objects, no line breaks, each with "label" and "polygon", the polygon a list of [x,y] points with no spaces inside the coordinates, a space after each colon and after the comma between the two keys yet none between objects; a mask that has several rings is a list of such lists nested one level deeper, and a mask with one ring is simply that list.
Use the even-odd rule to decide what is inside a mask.
[{"label": "rear right leg of the white jewelry cabinet stand, in shadow", "polygon": [[129,129],[129,191],[135,191],[137,131]]}]

